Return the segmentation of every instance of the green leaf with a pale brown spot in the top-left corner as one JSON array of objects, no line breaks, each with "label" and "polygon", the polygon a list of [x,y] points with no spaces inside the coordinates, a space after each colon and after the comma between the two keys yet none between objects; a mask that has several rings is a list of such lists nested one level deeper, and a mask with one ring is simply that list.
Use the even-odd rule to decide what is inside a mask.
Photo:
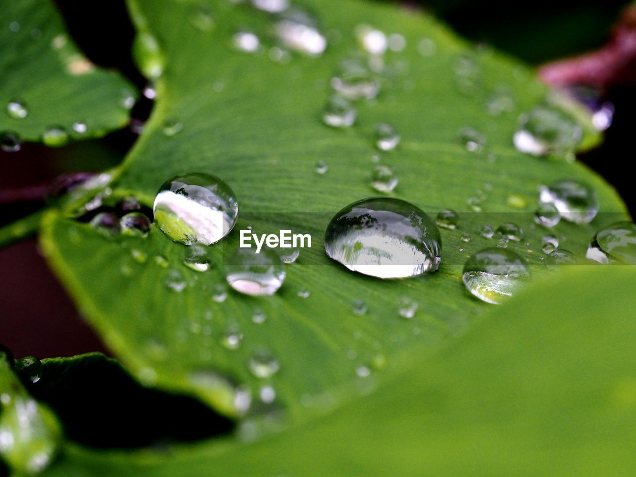
[{"label": "green leaf with a pale brown spot in the top-left corner", "polygon": [[[128,123],[134,86],[86,59],[50,0],[8,2],[0,23],[0,133],[42,141],[46,131],[59,127],[71,139],[86,139]],[[10,114],[11,102],[22,104],[25,112]],[[75,123],[85,130],[73,128]],[[59,136],[45,139],[51,146],[64,142]]]}]

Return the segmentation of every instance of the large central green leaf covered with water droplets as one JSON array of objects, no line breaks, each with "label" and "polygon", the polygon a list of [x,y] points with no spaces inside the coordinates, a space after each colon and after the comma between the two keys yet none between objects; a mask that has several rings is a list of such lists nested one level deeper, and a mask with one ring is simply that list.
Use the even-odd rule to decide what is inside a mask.
[{"label": "large central green leaf covered with water droplets", "polygon": [[[329,32],[330,43],[320,57],[293,54],[288,64],[280,64],[268,54],[272,17],[247,4],[211,3],[205,28],[201,15],[207,15],[207,6],[202,10],[199,3],[130,4],[144,35],[152,34],[150,43],[161,48],[165,69],[153,115],[104,202],[134,195],[151,206],[163,181],[179,172],[207,172],[230,184],[240,209],[233,233],[209,247],[213,266],[204,273],[185,268],[187,247],[156,228],[145,239],[108,239],[56,212],[44,219],[41,240],[53,269],[110,349],[146,385],[196,394],[230,415],[238,413],[232,388],[239,385],[251,392],[257,417],[272,411],[256,402],[261,387],[271,385],[277,396],[273,411],[287,422],[324,413],[422,361],[488,309],[460,280],[469,254],[494,244],[479,235],[485,221],[522,226],[530,245],[510,246],[541,274],[543,254],[537,251],[546,231],[532,220],[539,184],[564,177],[586,181],[597,191],[602,212],[625,216],[616,193],[583,166],[539,160],[513,148],[518,114],[544,97],[532,71],[489,50],[473,50],[422,13],[357,0],[340,1],[338,8],[322,0],[299,2]],[[333,130],[321,122],[322,107],[336,67],[359,51],[354,32],[361,22],[403,35],[407,46],[385,55],[389,73],[382,92],[377,101],[357,104],[356,125]],[[254,55],[236,51],[232,36],[240,29],[256,31],[265,48]],[[434,55],[418,52],[423,38],[436,45]],[[469,94],[458,89],[455,74],[464,57],[478,65],[477,87]],[[501,86],[513,95],[515,108],[490,116],[488,97]],[[183,123],[183,130],[164,134],[166,121]],[[433,215],[444,208],[461,215],[457,230],[442,230],[441,268],[428,277],[371,279],[347,272],[324,253],[322,237],[331,216],[354,200],[377,195],[370,174],[377,154],[373,128],[380,122],[394,125],[402,137],[397,149],[381,158],[400,177],[395,197]],[[459,130],[465,127],[487,137],[483,153],[460,143]],[[329,165],[324,175],[315,172],[319,160]],[[476,214],[467,206],[478,190],[488,196],[483,210],[492,214]],[[615,219],[600,214],[591,225],[563,223],[556,230],[580,255],[597,226]],[[286,267],[286,281],[275,296],[255,299],[232,292],[217,303],[212,293],[224,282],[224,256],[248,224],[259,233],[279,228],[310,233],[312,247]],[[469,243],[459,238],[467,232],[473,237]],[[168,267],[158,265],[157,257]],[[165,286],[172,270],[188,284],[181,293]],[[300,289],[310,296],[298,296]],[[398,314],[397,301],[404,296],[420,305],[411,320]],[[366,302],[366,315],[352,312],[355,300]],[[265,312],[263,324],[252,322],[257,309]],[[242,334],[239,349],[221,345],[228,329]],[[248,365],[263,348],[280,365],[268,380],[254,377]],[[358,377],[366,368],[371,376]]]}]

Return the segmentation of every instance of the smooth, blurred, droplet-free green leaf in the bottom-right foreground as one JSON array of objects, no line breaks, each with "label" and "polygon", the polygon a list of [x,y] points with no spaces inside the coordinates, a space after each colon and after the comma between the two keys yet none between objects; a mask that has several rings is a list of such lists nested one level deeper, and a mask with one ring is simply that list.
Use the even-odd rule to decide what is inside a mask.
[{"label": "smooth, blurred, droplet-free green leaf in the bottom-right foreground", "polygon": [[170,456],[71,447],[46,476],[630,475],[636,273],[567,268],[320,422]]}]

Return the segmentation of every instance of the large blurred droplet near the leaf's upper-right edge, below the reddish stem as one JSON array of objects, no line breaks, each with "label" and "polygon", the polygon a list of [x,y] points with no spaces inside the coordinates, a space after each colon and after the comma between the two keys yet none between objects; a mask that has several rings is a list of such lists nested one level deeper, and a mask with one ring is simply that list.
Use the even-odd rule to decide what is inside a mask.
[{"label": "large blurred droplet near the leaf's upper-right edge, below the reddish stem", "polygon": [[520,152],[535,156],[569,153],[580,141],[581,126],[568,114],[550,106],[537,106],[522,114],[513,137]]}]

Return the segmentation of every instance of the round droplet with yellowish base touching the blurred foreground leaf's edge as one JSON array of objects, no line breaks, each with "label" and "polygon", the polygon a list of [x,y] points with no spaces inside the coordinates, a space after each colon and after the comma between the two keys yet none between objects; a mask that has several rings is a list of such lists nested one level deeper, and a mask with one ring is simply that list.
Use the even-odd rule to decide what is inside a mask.
[{"label": "round droplet with yellowish base touching the blurred foreground leaf's edge", "polygon": [[499,304],[516,293],[529,278],[523,259],[508,249],[489,248],[466,261],[462,281],[470,293]]}]

